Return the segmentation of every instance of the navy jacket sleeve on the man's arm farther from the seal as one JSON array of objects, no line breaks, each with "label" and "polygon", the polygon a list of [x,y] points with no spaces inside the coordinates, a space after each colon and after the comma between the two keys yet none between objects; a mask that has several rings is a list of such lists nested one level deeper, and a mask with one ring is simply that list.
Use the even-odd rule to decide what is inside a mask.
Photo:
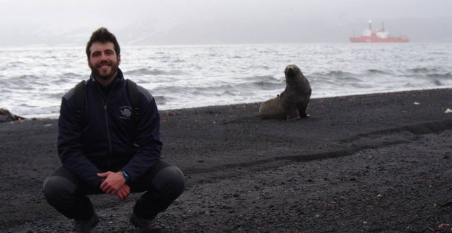
[{"label": "navy jacket sleeve on the man's arm farther from the seal", "polygon": [[97,173],[100,171],[83,153],[81,129],[77,122],[75,107],[70,101],[73,100],[70,99],[71,97],[73,97],[73,90],[62,98],[58,119],[58,156],[63,166],[79,176],[81,180],[89,186],[99,187],[102,179],[97,176]]}]

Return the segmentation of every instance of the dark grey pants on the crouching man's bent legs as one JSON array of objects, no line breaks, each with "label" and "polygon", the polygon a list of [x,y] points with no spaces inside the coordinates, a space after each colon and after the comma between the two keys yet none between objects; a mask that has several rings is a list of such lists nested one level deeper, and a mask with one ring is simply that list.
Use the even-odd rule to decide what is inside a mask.
[{"label": "dark grey pants on the crouching man's bent legs", "polygon": [[[145,192],[136,201],[134,212],[140,219],[153,219],[166,210],[184,191],[184,174],[172,164],[159,160],[145,175],[132,182],[131,193]],[[47,202],[64,216],[88,220],[94,209],[86,195],[101,194],[99,187],[89,187],[64,166],[57,167],[44,182],[42,193]]]}]

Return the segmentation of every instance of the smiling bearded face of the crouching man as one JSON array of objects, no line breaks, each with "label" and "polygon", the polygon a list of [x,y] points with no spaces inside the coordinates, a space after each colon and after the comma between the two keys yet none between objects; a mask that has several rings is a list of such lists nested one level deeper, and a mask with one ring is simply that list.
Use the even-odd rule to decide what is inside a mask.
[{"label": "smiling bearded face of the crouching man", "polygon": [[88,66],[96,77],[110,79],[116,76],[121,56],[116,55],[112,42],[93,42],[90,47],[91,55]]}]

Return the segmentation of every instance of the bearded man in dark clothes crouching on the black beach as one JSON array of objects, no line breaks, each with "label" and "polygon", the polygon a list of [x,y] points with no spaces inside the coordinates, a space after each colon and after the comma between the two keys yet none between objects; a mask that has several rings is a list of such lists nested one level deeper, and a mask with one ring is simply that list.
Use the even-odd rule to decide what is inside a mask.
[{"label": "bearded man in dark clothes crouching on the black beach", "polygon": [[159,232],[155,217],[184,191],[183,173],[160,156],[155,100],[141,86],[128,87],[118,68],[120,54],[108,29],[93,32],[86,45],[90,78],[62,98],[62,164],[45,180],[43,193],[53,208],[74,219],[73,232],[90,232],[99,221],[87,195],[106,193],[123,201],[130,193],[145,192],[131,210],[130,221],[141,232]]}]

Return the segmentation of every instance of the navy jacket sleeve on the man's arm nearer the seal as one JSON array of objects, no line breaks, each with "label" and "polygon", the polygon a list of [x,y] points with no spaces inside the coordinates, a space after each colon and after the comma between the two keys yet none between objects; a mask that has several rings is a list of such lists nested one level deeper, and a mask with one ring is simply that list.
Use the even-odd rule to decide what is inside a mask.
[{"label": "navy jacket sleeve on the man's arm nearer the seal", "polygon": [[138,86],[140,90],[140,120],[136,127],[136,154],[123,167],[131,181],[141,177],[160,159],[160,115],[152,95]]}]

